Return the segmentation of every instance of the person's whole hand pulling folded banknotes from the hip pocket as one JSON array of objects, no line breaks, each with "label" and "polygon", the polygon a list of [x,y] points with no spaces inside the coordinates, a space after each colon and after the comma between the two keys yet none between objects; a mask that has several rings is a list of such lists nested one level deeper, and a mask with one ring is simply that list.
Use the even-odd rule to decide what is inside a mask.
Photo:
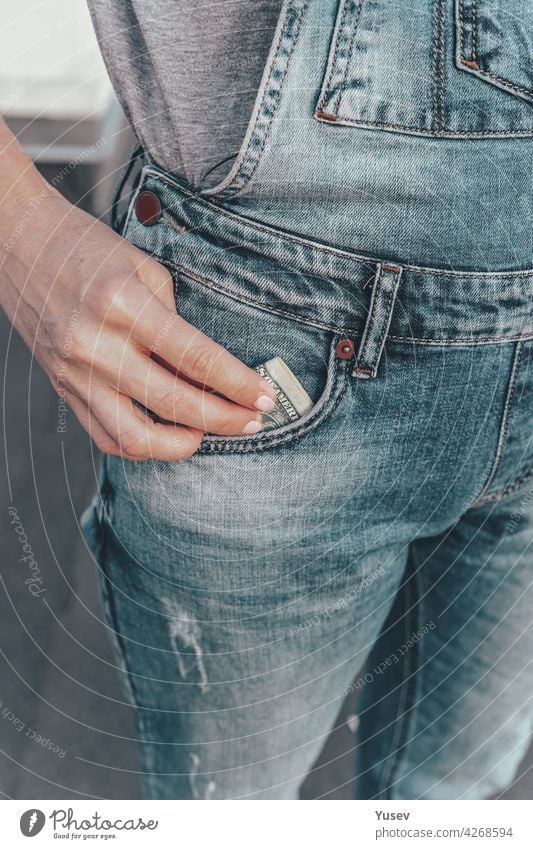
[{"label": "person's whole hand pulling folded banknotes from the hip pocket", "polygon": [[39,185],[3,204],[2,306],[98,448],[178,460],[205,431],[260,430],[273,390],[176,314],[168,271]]}]

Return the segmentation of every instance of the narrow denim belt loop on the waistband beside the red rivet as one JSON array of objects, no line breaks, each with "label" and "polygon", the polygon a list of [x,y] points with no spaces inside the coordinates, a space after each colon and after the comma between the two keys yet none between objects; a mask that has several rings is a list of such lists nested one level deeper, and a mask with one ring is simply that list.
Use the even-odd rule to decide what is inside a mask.
[{"label": "narrow denim belt loop on the waistband beside the red rivet", "polygon": [[399,265],[387,262],[378,265],[372,286],[368,317],[352,377],[366,379],[377,375],[401,275],[402,269]]}]

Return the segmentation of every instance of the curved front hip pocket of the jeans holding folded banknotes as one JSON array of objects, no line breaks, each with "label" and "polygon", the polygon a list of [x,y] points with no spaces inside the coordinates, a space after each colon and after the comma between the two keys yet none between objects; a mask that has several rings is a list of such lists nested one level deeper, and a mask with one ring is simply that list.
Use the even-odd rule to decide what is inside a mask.
[{"label": "curved front hip pocket of the jeans holding folded banknotes", "polygon": [[[347,361],[336,355],[339,337],[273,311],[268,304],[224,291],[190,270],[173,271],[179,315],[251,368],[281,357],[311,397],[296,421],[259,433],[207,434],[199,453],[261,451],[314,431],[335,409],[346,385]],[[344,377],[344,379],[343,379]]]}]

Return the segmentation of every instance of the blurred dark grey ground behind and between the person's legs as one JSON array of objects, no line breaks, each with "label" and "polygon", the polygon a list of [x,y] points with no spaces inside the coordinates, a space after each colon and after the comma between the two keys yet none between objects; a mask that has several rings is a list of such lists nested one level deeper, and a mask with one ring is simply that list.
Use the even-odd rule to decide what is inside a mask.
[{"label": "blurred dark grey ground behind and between the person's legs", "polygon": [[[48,166],[45,173],[50,179],[54,172]],[[86,192],[93,180],[91,169],[79,166],[62,188],[90,209]],[[132,710],[119,686],[96,567],[78,525],[96,486],[97,458],[72,414],[66,433],[57,432],[58,398],[3,315],[0,344],[2,479],[8,473],[0,538],[0,792],[13,799],[139,798]],[[41,598],[24,584],[10,504],[41,569]],[[354,710],[345,704],[303,798],[352,798]],[[66,750],[65,757],[31,739],[28,728]],[[531,798],[532,764],[530,751],[503,798]]]}]

